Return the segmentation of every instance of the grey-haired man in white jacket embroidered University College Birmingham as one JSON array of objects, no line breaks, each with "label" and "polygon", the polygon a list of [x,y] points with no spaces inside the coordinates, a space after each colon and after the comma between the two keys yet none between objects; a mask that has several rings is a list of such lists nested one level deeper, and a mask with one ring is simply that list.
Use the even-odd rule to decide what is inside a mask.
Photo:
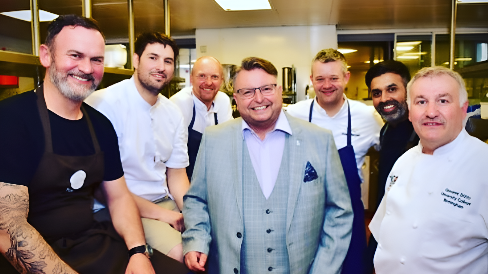
[{"label": "grey-haired man in white jacket embroidered University College Birmingham", "polygon": [[369,224],[376,273],[487,273],[488,145],[464,129],[464,81],[424,68],[407,104],[420,142],[396,161]]}]

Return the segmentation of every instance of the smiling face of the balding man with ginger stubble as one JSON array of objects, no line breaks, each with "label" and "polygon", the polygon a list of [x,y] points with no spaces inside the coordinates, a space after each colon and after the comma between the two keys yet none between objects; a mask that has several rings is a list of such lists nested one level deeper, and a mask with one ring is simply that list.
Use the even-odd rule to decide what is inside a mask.
[{"label": "smiling face of the balding man with ginger stubble", "polygon": [[191,71],[190,83],[193,94],[210,105],[224,81],[221,64],[212,57],[198,59]]}]

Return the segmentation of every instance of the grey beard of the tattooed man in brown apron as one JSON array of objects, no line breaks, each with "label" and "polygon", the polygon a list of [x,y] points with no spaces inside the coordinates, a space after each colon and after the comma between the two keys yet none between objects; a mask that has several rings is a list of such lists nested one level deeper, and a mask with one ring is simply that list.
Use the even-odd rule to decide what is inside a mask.
[{"label": "grey beard of the tattooed man in brown apron", "polygon": [[[96,82],[95,78],[91,74],[84,74],[79,70],[70,70],[64,75],[62,72],[58,70],[56,67],[56,63],[52,63],[51,66],[53,69],[49,70],[49,79],[51,82],[58,88],[58,90],[61,92],[61,94],[73,101],[83,101],[86,99],[90,94],[92,94],[100,84],[100,81]],[[81,85],[81,84],[74,84],[71,85],[68,83],[68,77],[71,77],[70,75],[75,75],[81,78],[86,78],[88,80],[91,80],[92,84],[89,88],[86,88],[86,86]]]}]

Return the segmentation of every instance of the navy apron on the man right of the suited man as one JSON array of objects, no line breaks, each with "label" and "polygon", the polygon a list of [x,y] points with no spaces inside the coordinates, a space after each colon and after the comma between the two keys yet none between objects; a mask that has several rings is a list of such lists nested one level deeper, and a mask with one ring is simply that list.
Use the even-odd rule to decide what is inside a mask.
[{"label": "navy apron on the man right of the suited man", "polygon": [[[312,122],[313,103],[310,104],[310,113],[308,121]],[[342,274],[362,274],[363,273],[363,253],[366,250],[366,226],[365,226],[365,208],[361,200],[361,178],[358,174],[356,155],[351,143],[351,110],[347,102],[347,145],[340,150],[342,168],[346,176],[349,196],[351,196],[352,211],[354,219],[352,221],[352,236],[346,259],[344,259]]]}]

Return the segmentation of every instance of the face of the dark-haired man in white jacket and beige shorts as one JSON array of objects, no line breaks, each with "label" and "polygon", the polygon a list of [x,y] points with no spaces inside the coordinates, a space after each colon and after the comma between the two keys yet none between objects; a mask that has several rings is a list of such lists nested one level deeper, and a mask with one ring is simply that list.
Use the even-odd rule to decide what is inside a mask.
[{"label": "face of the dark-haired man in white jacket and beige shorts", "polygon": [[134,54],[134,76],[141,86],[152,94],[158,94],[173,78],[173,49],[160,43],[147,44],[139,57]]}]

